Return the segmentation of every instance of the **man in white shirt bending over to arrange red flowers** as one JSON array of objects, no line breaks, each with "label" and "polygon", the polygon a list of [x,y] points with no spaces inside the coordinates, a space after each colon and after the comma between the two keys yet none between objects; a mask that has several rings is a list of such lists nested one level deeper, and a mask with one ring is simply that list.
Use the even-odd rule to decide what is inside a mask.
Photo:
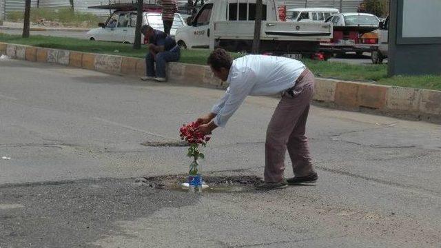
[{"label": "man in white shirt bending over to arrange red flowers", "polygon": [[[197,128],[209,134],[225,127],[248,95],[282,99],[267,128],[265,141],[265,183],[257,189],[280,189],[288,184],[315,183],[317,173],[311,164],[305,126],[314,92],[314,75],[300,61],[278,56],[247,55],[233,61],[223,49],[209,55],[207,63],[216,77],[227,81],[225,95],[209,114],[198,118]],[[288,149],[294,178],[285,180],[285,153]]]}]

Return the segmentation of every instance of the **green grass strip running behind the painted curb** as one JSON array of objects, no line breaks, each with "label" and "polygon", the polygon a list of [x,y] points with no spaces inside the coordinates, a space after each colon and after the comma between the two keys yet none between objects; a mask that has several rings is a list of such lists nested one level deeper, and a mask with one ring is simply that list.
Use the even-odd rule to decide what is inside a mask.
[{"label": "green grass strip running behind the painted curb", "polygon": [[[0,42],[79,52],[132,56],[136,58],[144,58],[147,53],[145,45],[143,45],[141,50],[134,50],[130,44],[61,37],[32,36],[28,39],[23,39],[18,35],[0,33]],[[208,55],[209,50],[182,50],[180,62],[205,65]],[[236,59],[243,56],[243,54],[232,53],[232,56]],[[351,65],[348,63],[313,61],[310,59],[302,59],[302,62],[316,76],[320,77],[441,90],[441,75],[387,77],[387,65]]]}]

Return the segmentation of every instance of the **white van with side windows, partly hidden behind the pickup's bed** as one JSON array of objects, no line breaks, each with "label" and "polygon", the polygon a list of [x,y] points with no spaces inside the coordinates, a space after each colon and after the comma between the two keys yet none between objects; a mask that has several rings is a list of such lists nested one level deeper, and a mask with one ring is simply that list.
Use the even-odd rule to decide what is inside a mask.
[{"label": "white van with side windows, partly hidden behind the pickup's bed", "polygon": [[292,8],[287,10],[287,21],[325,22],[331,14],[338,14],[336,8]]}]

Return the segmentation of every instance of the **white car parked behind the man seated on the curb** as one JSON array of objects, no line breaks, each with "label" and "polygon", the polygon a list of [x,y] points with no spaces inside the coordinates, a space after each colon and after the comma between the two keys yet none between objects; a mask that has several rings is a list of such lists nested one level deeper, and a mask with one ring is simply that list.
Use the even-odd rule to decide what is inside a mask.
[{"label": "white car parked behind the man seated on the curb", "polygon": [[[116,21],[116,25],[114,24]],[[157,30],[164,30],[161,12],[144,12],[143,25],[151,25]],[[176,30],[185,24],[181,14],[174,14],[174,21],[170,35],[174,37]],[[91,41],[118,41],[122,43],[134,43],[136,28],[136,11],[116,10],[107,21],[99,23],[100,28],[90,30],[86,35]],[[147,42],[143,39],[144,43]]]}]

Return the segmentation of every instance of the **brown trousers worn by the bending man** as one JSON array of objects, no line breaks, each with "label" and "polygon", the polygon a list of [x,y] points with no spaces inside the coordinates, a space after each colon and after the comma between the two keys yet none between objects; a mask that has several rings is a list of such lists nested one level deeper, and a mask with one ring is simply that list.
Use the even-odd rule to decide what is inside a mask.
[{"label": "brown trousers worn by the bending man", "polygon": [[305,69],[297,79],[293,95],[282,93],[282,99],[269,122],[265,142],[265,182],[280,182],[288,150],[295,176],[315,173],[305,136],[306,121],[314,93],[314,74]]}]

